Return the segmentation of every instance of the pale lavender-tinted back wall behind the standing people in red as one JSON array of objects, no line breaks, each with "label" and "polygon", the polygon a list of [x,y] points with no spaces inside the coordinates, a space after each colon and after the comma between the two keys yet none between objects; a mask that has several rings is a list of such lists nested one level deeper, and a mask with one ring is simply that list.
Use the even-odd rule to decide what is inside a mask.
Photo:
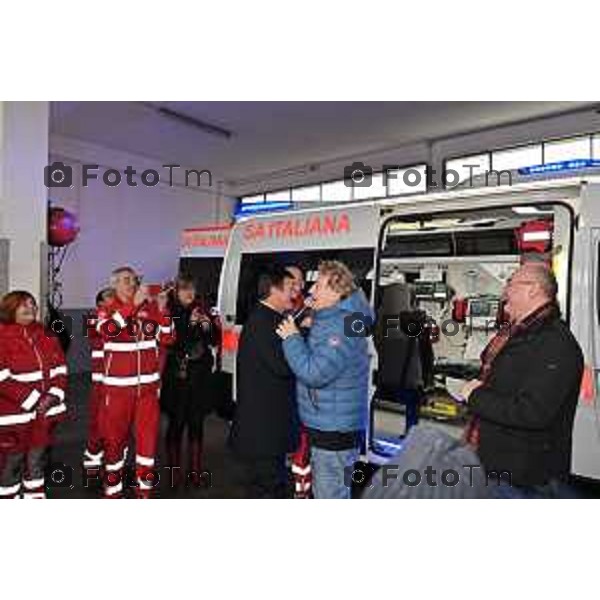
[{"label": "pale lavender-tinted back wall behind the standing people in red", "polygon": [[[160,172],[160,165],[73,140],[51,137],[50,162],[55,160],[73,168],[73,186],[50,189],[49,199],[74,212],[81,228],[60,276],[62,306],[75,324],[69,368],[80,372],[89,369],[83,316],[93,306],[98,290],[107,285],[110,272],[127,264],[149,283],[172,278],[177,272],[181,231],[229,221],[233,200],[213,189],[170,187],[162,182],[156,187],[141,183],[129,187],[123,178],[118,187],[105,186],[101,181],[105,168],[123,170],[132,165],[138,173],[147,168]],[[100,181],[91,181],[88,187],[81,185],[77,175],[84,163],[100,165]]]}]

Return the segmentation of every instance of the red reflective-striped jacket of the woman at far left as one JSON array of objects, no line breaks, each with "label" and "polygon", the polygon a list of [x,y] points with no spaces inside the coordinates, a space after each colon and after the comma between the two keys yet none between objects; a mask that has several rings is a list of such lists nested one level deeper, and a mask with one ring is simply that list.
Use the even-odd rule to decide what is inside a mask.
[{"label": "red reflective-striped jacket of the woman at far left", "polygon": [[[0,324],[0,451],[28,450],[34,423],[45,428],[64,418],[66,384],[64,353],[41,323]],[[39,414],[45,393],[60,403]]]}]

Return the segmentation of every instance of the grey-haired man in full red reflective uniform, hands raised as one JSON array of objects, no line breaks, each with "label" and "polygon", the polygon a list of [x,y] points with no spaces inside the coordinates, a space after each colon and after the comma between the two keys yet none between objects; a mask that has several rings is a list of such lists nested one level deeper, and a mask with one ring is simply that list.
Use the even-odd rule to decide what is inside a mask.
[{"label": "grey-haired man in full red reflective uniform, hands raised", "polygon": [[[152,301],[130,267],[113,271],[115,298],[98,311],[96,331],[104,342],[105,496],[123,494],[123,468],[130,430],[135,439],[136,496],[148,498],[159,428],[160,346],[173,341],[164,301]],[[160,303],[160,304],[159,304]]]}]

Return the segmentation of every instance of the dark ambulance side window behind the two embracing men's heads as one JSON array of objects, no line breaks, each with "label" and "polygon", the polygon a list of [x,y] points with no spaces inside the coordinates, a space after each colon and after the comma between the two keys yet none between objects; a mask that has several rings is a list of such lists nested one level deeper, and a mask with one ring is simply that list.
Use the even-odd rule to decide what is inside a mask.
[{"label": "dark ambulance side window behind the two embracing men's heads", "polygon": [[274,264],[295,265],[304,272],[305,291],[317,278],[319,263],[324,260],[339,260],[354,274],[357,283],[370,297],[373,270],[373,248],[340,250],[313,250],[299,252],[279,252],[262,254],[242,254],[236,308],[236,324],[243,325],[252,308],[258,302],[258,278],[260,274]]}]

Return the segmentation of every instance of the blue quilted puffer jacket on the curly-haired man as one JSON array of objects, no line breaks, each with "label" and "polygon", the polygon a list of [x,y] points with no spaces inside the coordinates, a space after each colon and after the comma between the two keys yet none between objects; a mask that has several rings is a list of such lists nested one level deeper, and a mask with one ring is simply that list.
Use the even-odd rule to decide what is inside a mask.
[{"label": "blue quilted puffer jacket on the curly-haired man", "polygon": [[364,431],[369,382],[368,342],[348,337],[353,313],[372,317],[362,291],[317,311],[308,338],[288,337],[283,351],[297,378],[298,409],[304,425],[319,431]]}]

